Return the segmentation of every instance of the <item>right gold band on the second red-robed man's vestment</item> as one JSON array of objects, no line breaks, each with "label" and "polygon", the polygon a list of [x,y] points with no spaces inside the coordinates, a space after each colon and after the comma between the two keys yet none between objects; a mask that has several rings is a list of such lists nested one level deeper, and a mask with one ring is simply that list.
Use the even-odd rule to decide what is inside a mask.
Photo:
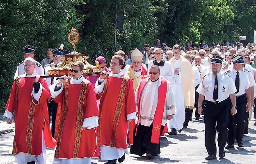
[{"label": "right gold band on the second red-robed man's vestment", "polygon": [[78,113],[77,113],[76,125],[75,125],[75,148],[74,148],[72,158],[78,158],[78,153],[79,153],[79,149],[80,149],[86,87],[87,87],[87,84],[85,84],[85,82],[83,82],[82,89],[80,90],[79,99],[78,99]]}]

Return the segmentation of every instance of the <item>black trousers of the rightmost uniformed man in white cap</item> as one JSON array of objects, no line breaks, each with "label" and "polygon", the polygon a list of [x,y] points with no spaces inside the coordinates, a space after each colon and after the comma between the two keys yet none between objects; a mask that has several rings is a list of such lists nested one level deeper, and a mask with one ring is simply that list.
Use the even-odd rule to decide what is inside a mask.
[{"label": "black trousers of the rightmost uniformed man in white cap", "polygon": [[234,140],[238,142],[242,142],[242,137],[244,135],[244,127],[245,127],[245,108],[247,104],[247,98],[244,95],[236,98],[236,110],[237,113],[235,115],[231,115],[229,112],[229,136],[228,136],[228,144],[234,144]]}]

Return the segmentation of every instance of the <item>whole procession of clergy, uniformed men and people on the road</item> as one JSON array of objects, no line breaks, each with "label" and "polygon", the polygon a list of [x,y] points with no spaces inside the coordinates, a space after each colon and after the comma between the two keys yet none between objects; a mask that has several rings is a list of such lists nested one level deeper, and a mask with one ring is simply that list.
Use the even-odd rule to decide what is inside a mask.
[{"label": "whole procession of clergy, uniformed men and people on the road", "polygon": [[[256,97],[254,45],[179,41],[169,47],[134,48],[114,53],[101,75],[83,76],[74,61],[71,76],[40,78],[62,65],[64,50],[48,48],[41,64],[36,47],[23,48],[4,116],[15,113],[13,154],[18,164],[46,163],[46,147],[55,147],[53,164],[91,164],[101,157],[116,164],[130,153],[152,159],[160,154],[160,136],[176,135],[204,115],[207,160],[243,147]],[[50,128],[50,118],[52,126]],[[254,118],[256,113],[254,112]],[[167,121],[170,132],[168,132]],[[254,123],[256,125],[256,123]]]}]

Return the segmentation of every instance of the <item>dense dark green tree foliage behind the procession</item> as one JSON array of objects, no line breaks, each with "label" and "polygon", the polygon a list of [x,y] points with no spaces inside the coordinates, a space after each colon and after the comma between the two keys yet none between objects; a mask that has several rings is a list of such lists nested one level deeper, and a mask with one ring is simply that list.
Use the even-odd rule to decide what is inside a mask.
[{"label": "dense dark green tree foliage behind the procession", "polygon": [[124,10],[124,28],[117,30],[117,50],[128,52],[156,38],[168,45],[177,41],[206,43],[253,41],[255,0],[0,0],[0,110],[9,96],[22,47],[37,46],[35,59],[46,48],[72,50],[71,27],[78,29],[78,52],[110,60],[114,53],[114,19]]}]

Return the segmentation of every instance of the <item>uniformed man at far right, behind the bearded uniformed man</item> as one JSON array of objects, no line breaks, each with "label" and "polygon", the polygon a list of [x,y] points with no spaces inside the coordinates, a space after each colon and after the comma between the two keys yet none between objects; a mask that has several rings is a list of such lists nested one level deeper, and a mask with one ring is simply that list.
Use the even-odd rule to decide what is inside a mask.
[{"label": "uniformed man at far right, behind the bearded uniformed man", "polygon": [[242,56],[237,55],[232,60],[233,68],[226,71],[231,76],[235,83],[237,112],[235,116],[229,115],[229,135],[227,139],[227,149],[234,147],[234,140],[236,139],[238,146],[243,147],[242,137],[244,134],[244,117],[245,110],[251,109],[251,95],[250,95],[250,82],[245,71],[242,70],[243,64],[245,63]]}]

